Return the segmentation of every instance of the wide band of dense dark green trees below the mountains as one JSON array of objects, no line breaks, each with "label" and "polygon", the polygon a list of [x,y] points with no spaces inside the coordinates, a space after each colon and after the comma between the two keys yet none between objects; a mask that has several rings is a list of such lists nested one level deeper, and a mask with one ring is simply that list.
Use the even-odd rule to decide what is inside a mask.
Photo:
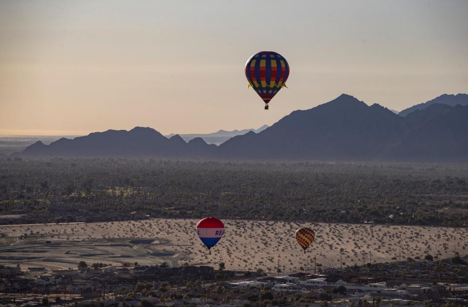
[{"label": "wide band of dense dark green trees below the mountains", "polygon": [[466,226],[467,174],[465,164],[8,158],[0,214],[25,214],[24,223],[215,215]]}]

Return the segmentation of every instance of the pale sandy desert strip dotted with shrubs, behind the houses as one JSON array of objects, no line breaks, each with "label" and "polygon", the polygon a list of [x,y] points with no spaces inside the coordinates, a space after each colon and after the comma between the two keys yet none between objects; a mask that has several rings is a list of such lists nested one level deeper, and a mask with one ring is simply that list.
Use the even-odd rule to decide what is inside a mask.
[{"label": "pale sandy desert strip dotted with shrubs, behind the houses", "polygon": [[[399,257],[421,257],[429,253],[434,257],[446,258],[459,252],[466,255],[468,244],[467,228],[428,227],[428,226],[395,226],[395,225],[353,225],[353,224],[298,224],[288,222],[224,220],[226,233],[221,241],[212,248],[212,255],[202,245],[195,233],[197,220],[191,219],[153,219],[144,221],[123,221],[87,224],[53,224],[53,225],[1,225],[0,233],[3,247],[25,247],[24,245],[44,244],[68,241],[70,251],[62,254],[59,262],[67,265],[78,263],[79,257],[74,249],[90,247],[90,242],[115,242],[117,238],[128,245],[128,238],[156,239],[156,257],[147,258],[151,251],[130,253],[125,261],[137,261],[142,264],[167,261],[172,265],[189,263],[194,265],[216,266],[224,262],[227,269],[262,268],[265,271],[275,270],[278,259],[285,271],[297,271],[299,267],[313,267],[316,256],[322,267],[340,266],[340,254],[345,265],[396,261]],[[313,245],[304,254],[294,239],[294,232],[301,226],[311,227],[316,238]],[[28,239],[19,239],[28,234]],[[72,241],[72,242],[70,242]],[[75,243],[73,242],[75,241]],[[125,248],[140,248],[137,245]],[[34,248],[33,248],[34,249]],[[0,256],[8,253],[0,249]],[[28,248],[26,248],[28,250]],[[102,251],[102,250],[101,250]],[[100,255],[99,262],[121,264],[114,251],[113,257]],[[11,255],[11,249],[10,249]],[[125,251],[123,251],[125,253]],[[158,254],[159,253],[159,254]],[[164,253],[167,253],[167,257]],[[86,258],[89,250],[84,254]],[[14,253],[13,253],[14,255]],[[21,252],[21,255],[25,255]],[[74,256],[72,256],[74,255]],[[79,253],[78,253],[79,255]],[[108,255],[108,254],[107,254]],[[143,255],[143,256],[142,256]],[[58,257],[55,255],[55,257]],[[146,257],[146,258],[145,258]],[[394,258],[396,257],[396,258]],[[393,260],[392,260],[393,258]],[[84,259],[87,263],[96,260]],[[17,263],[11,257],[0,257],[1,264]],[[39,266],[40,263],[34,263]],[[42,266],[47,266],[43,263]]]}]

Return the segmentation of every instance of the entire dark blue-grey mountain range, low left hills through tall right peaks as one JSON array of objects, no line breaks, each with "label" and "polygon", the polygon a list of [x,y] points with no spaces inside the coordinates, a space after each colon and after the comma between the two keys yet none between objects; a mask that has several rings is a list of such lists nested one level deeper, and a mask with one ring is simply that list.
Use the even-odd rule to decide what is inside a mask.
[{"label": "entire dark blue-grey mountain range, low left hills through tall right peaks", "polygon": [[452,105],[453,98],[446,96],[463,102],[468,95],[442,95],[397,115],[342,94],[219,146],[201,138],[187,143],[179,135],[166,138],[152,128],[135,127],[62,138],[50,145],[37,142],[21,155],[467,162],[468,105]]}]

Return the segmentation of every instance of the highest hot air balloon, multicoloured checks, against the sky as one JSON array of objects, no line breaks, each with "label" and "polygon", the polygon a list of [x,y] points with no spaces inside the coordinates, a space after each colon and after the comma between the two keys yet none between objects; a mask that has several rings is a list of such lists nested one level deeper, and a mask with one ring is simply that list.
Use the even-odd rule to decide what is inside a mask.
[{"label": "highest hot air balloon, multicoloured checks, against the sky", "polygon": [[245,76],[255,92],[265,102],[268,102],[282,87],[286,86],[289,76],[289,64],[285,58],[273,51],[261,51],[254,54],[245,64]]}]

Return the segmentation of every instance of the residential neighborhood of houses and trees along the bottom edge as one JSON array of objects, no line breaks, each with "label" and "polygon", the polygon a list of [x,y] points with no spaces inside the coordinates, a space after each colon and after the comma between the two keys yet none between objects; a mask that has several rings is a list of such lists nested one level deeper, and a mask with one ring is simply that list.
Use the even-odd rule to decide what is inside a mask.
[{"label": "residential neighborhood of houses and trees along the bottom edge", "polygon": [[[0,292],[68,294],[70,304],[81,307],[257,306],[259,302],[264,306],[304,307],[323,306],[323,302],[331,307],[468,306],[467,263],[463,258],[419,260],[284,276],[221,271],[211,266],[104,266],[53,271],[17,266],[0,268]],[[435,279],[437,274],[442,274],[440,279]],[[136,290],[143,284],[147,290]],[[37,298],[23,305],[35,304],[40,305]]]}]

